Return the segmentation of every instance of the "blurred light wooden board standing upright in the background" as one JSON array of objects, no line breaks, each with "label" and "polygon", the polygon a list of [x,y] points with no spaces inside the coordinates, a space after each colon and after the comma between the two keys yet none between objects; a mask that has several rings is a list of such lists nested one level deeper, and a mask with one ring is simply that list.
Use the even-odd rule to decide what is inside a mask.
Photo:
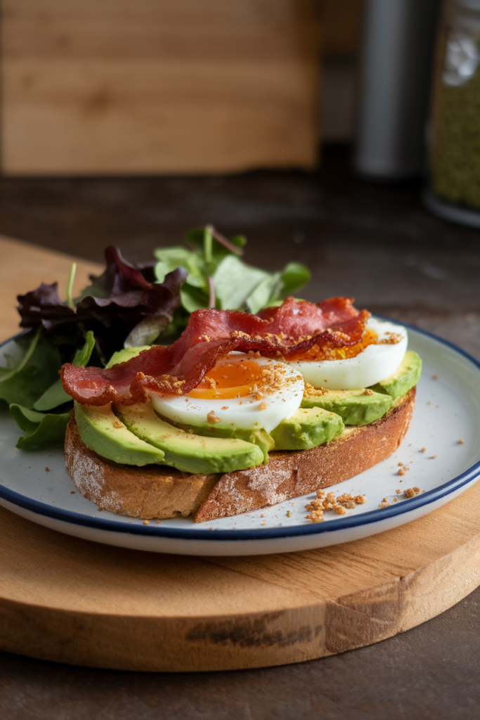
[{"label": "blurred light wooden board standing upright in the background", "polygon": [[312,168],[320,58],[345,105],[361,23],[361,0],[1,6],[7,175]]}]

